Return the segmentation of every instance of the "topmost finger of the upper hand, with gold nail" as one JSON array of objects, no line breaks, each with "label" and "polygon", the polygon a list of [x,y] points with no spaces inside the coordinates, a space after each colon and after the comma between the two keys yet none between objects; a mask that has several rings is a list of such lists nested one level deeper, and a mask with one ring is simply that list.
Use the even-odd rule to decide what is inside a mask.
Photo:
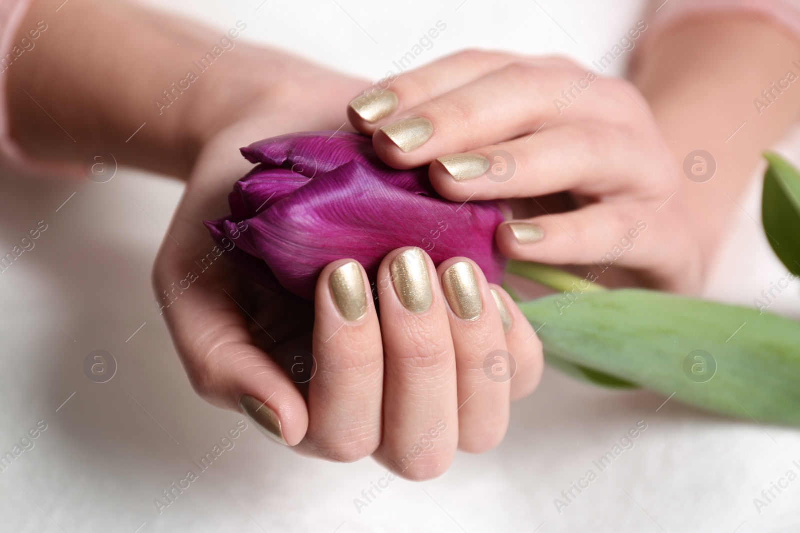
[{"label": "topmost finger of the upper hand, with gold nail", "polygon": [[377,121],[403,113],[518,59],[512,54],[465,50],[399,76],[392,74],[350,101],[347,117],[355,129],[371,135]]}]

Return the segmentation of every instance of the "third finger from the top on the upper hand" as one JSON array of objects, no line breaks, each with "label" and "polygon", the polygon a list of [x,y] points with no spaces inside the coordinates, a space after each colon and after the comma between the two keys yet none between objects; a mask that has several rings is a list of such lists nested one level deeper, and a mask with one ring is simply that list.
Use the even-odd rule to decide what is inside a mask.
[{"label": "third finger from the top on the upper hand", "polygon": [[[632,145],[640,148],[631,150]],[[674,190],[667,191],[674,166],[656,135],[648,139],[620,125],[581,121],[438,157],[429,175],[438,193],[452,201],[537,197],[564,190],[663,198]]]}]

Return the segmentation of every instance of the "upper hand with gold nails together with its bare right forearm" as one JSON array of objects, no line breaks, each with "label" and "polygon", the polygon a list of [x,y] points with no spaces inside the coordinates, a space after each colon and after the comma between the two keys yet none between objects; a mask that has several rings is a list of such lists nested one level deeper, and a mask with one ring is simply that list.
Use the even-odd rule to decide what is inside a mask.
[{"label": "upper hand with gold nails together with its bare right forearm", "polygon": [[[430,164],[452,201],[521,200],[498,228],[508,257],[696,293],[760,153],[798,117],[800,93],[769,116],[752,103],[794,58],[797,44],[768,21],[692,20],[638,58],[635,85],[560,58],[466,51],[367,89],[349,117],[387,164]],[[715,180],[684,174],[698,148],[716,157]]]}]

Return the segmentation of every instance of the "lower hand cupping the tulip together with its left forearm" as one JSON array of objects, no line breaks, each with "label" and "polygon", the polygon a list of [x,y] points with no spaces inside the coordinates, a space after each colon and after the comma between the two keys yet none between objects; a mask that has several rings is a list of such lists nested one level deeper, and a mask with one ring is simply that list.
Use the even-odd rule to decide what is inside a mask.
[{"label": "lower hand cupping the tulip together with its left forearm", "polygon": [[[390,253],[378,284],[380,321],[371,299],[357,320],[346,319],[334,303],[330,276],[337,268],[350,265],[363,278],[362,268],[354,270],[346,259],[322,272],[314,303],[260,288],[224,260],[202,270],[190,288],[183,284],[188,272],[198,271],[195,261],[214,253],[202,220],[227,213],[227,193],[252,168],[238,149],[281,133],[341,128],[346,103],[363,82],[237,42],[169,108],[158,109],[154,99],[220,36],[126,3],[73,0],[55,18],[57,8],[47,0],[34,3],[21,26],[24,33],[39,20],[51,21],[35,54],[10,76],[14,139],[42,160],[81,161],[108,151],[121,164],[187,179],[153,278],[178,354],[202,397],[240,411],[248,395],[259,405],[256,412],[244,410],[297,451],[339,461],[374,455],[410,479],[441,474],[456,447],[485,451],[502,440],[510,399],[538,384],[542,347],[506,292],[487,284],[466,258],[434,268],[422,250]],[[98,27],[98,20],[104,24]],[[126,141],[142,121],[146,126]],[[422,260],[427,308],[398,299],[398,276],[391,274],[398,256]],[[465,268],[472,276],[464,277]],[[469,289],[468,316],[466,304],[452,296],[459,290],[448,292],[447,284]],[[298,349],[315,359],[313,379],[302,383],[286,372]],[[511,352],[514,360],[488,359],[487,374],[494,352]]]}]

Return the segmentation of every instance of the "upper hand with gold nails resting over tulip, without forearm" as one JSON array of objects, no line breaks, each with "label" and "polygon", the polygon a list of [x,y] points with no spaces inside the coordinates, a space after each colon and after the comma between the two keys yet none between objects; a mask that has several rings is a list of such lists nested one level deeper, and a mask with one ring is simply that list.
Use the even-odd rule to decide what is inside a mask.
[{"label": "upper hand with gold nails resting over tulip, without forearm", "polygon": [[[700,287],[670,138],[629,82],[560,58],[468,51],[367,89],[348,113],[387,164],[430,164],[443,197],[527,199],[498,228],[508,257],[592,265],[592,281],[614,265],[658,288]],[[552,207],[547,195],[564,191]]]}]

